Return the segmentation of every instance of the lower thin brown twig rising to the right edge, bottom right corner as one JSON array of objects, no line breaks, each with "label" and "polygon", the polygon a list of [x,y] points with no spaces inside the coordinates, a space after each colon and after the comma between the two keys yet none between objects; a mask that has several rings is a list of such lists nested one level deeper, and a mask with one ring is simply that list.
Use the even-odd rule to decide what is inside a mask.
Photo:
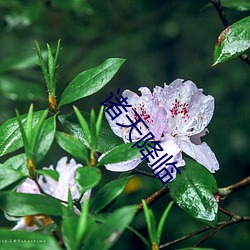
[{"label": "lower thin brown twig rising to the right edge, bottom right corner", "polygon": [[215,233],[219,232],[221,229],[233,225],[233,224],[238,224],[241,222],[247,222],[250,221],[250,216],[237,216],[235,215],[230,221],[224,221],[221,223],[216,229],[212,230],[209,232],[207,235],[205,235],[202,239],[200,239],[196,244],[194,244],[194,247],[199,246],[202,244],[204,241],[206,241],[209,237],[214,235]]}]

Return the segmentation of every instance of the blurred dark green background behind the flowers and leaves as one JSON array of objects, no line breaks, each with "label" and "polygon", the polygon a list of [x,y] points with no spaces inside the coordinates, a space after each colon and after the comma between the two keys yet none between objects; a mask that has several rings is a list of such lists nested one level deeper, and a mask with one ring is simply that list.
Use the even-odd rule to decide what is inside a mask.
[{"label": "blurred dark green background behind the flowers and leaves", "polygon": [[[249,65],[236,58],[211,67],[214,44],[223,30],[216,10],[208,1],[160,0],[0,0],[0,124],[15,116],[15,108],[26,113],[30,102],[35,109],[46,108],[46,88],[38,67],[34,40],[42,49],[56,47],[61,39],[57,71],[57,97],[81,71],[97,66],[107,58],[126,62],[114,79],[97,94],[78,101],[86,112],[96,111],[110,91],[163,86],[176,78],[190,79],[205,94],[215,97],[215,113],[204,140],[216,154],[220,170],[215,174],[219,187],[228,186],[250,174],[250,84]],[[249,12],[226,9],[233,23]],[[24,90],[29,89],[25,93]],[[33,93],[32,93],[33,92]],[[20,94],[17,94],[20,93]],[[71,105],[62,113],[72,111]],[[53,144],[41,167],[55,164],[65,155]],[[3,157],[7,159],[9,156]],[[142,165],[140,169],[148,170]],[[103,171],[105,178],[118,174]],[[138,203],[161,188],[155,178],[138,176],[114,206]],[[249,215],[249,190],[234,193],[220,203],[238,215]],[[157,219],[170,201],[158,200],[152,209]],[[220,220],[227,219],[224,216]],[[12,226],[1,215],[1,226]],[[133,226],[147,235],[143,214]],[[191,233],[204,225],[176,205],[165,225],[162,243]],[[250,224],[230,226],[206,241],[203,247],[247,249]],[[191,238],[169,249],[192,246]],[[130,232],[112,249],[145,249]]]}]

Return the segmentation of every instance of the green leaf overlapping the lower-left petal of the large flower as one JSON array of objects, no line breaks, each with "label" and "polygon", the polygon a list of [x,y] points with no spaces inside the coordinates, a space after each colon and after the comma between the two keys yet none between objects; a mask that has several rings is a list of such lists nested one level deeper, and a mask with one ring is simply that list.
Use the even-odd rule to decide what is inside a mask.
[{"label": "green leaf overlapping the lower-left petal of the large flower", "polygon": [[139,158],[141,156],[140,150],[137,147],[131,148],[132,145],[134,145],[134,142],[122,144],[111,149],[111,151],[100,160],[97,166]]}]

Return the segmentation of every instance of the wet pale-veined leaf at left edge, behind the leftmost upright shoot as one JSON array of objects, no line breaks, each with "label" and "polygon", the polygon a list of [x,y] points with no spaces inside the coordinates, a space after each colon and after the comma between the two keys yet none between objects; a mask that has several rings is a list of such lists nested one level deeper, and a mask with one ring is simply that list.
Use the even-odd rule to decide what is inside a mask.
[{"label": "wet pale-veined leaf at left edge, behind the leftmost upright shoot", "polygon": [[[34,112],[33,127],[41,118],[44,111]],[[27,114],[21,115],[22,123],[25,124]],[[25,126],[25,125],[24,125]],[[11,118],[0,126],[0,156],[13,152],[23,146],[17,118]]]}]

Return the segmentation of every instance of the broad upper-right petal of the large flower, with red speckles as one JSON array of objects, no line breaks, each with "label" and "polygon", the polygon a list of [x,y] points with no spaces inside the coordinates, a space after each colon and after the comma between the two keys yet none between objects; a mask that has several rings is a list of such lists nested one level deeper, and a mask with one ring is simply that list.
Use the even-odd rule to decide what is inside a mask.
[{"label": "broad upper-right petal of the large flower, with red speckles", "polygon": [[191,136],[203,131],[214,112],[214,98],[204,95],[192,81],[177,79],[164,88],[155,87],[153,95],[168,113],[172,136]]}]

